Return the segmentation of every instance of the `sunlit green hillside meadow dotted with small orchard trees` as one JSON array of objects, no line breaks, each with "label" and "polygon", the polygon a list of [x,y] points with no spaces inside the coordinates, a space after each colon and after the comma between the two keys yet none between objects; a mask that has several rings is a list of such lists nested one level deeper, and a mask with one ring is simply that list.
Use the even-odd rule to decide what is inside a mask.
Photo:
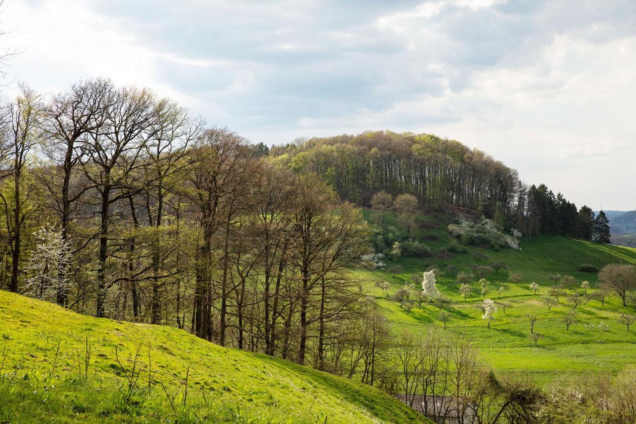
[{"label": "sunlit green hillside meadow dotted with small orchard trees", "polygon": [[[371,218],[366,212],[367,218]],[[377,217],[373,216],[374,219]],[[387,217],[387,225],[391,225],[394,216]],[[438,241],[424,241],[431,246],[434,253],[445,248],[450,242],[446,233],[446,225],[450,218],[443,215],[420,217],[424,222],[415,232],[415,238],[437,236]],[[428,229],[427,229],[428,228]],[[417,306],[410,314],[400,309],[399,304],[384,299],[379,288],[373,286],[378,279],[385,279],[392,285],[394,292],[412,274],[421,276],[429,265],[436,264],[444,269],[447,264],[457,265],[460,271],[469,271],[468,264],[488,264],[502,261],[508,264],[508,271],[501,270],[497,274],[486,276],[490,281],[487,297],[495,302],[505,302],[506,313],[501,306],[496,314],[496,321],[487,329],[481,320],[481,310],[476,307],[482,299],[480,286],[473,281],[473,294],[467,301],[459,295],[459,286],[454,278],[441,276],[438,281],[439,290],[452,299],[452,304],[445,307],[450,314],[448,331],[464,333],[480,348],[481,355],[498,371],[530,372],[540,383],[548,383],[555,376],[576,374],[584,371],[609,370],[616,371],[626,364],[636,363],[636,326],[627,332],[624,325],[617,322],[622,312],[634,313],[630,307],[621,306],[620,299],[611,295],[602,307],[597,300],[576,308],[579,322],[565,330],[562,318],[572,310],[566,297],[560,297],[560,304],[551,311],[544,306],[543,299],[548,295],[548,287],[552,282],[550,274],[557,272],[571,274],[577,280],[590,281],[591,291],[597,287],[597,274],[578,272],[579,265],[588,263],[600,268],[611,262],[636,264],[636,250],[620,246],[604,246],[597,243],[567,239],[565,237],[541,237],[522,241],[522,251],[504,249],[501,251],[484,250],[488,256],[484,260],[476,260],[470,253],[455,254],[450,260],[432,258],[401,258],[397,262],[389,262],[385,269],[394,264],[403,267],[403,272],[393,276],[385,270],[356,270],[354,273],[366,281],[367,290],[375,296],[377,303],[384,309],[386,316],[394,323],[396,329],[425,329],[434,325],[443,327],[438,322],[439,311],[432,305]],[[523,282],[515,286],[508,281],[509,272],[518,271],[523,274]],[[421,278],[420,278],[421,279]],[[529,289],[529,283],[536,281],[541,288],[537,295]],[[501,299],[497,299],[497,289],[503,283],[505,290]],[[580,287],[577,287],[580,289]],[[530,325],[526,314],[536,314],[535,332],[543,335],[539,346],[534,346],[530,336]],[[586,330],[584,323],[609,325],[608,331]]]}]

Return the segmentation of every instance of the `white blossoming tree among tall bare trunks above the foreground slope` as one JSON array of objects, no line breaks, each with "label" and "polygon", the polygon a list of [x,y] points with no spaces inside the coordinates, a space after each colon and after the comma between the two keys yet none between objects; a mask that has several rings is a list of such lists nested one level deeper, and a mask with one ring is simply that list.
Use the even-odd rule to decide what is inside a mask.
[{"label": "white blossoming tree among tall bare trunks above the foreground slope", "polygon": [[[71,244],[62,237],[62,230],[44,225],[34,233],[36,247],[25,268],[25,293],[43,300],[55,300],[58,293],[69,290]],[[60,269],[66,270],[60,275]]]}]

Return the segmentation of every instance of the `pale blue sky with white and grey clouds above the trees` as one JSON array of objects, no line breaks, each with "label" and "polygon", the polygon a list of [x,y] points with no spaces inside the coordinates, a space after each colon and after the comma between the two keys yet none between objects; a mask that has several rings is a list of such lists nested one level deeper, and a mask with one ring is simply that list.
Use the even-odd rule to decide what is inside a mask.
[{"label": "pale blue sky with white and grey clouds above the trees", "polygon": [[4,0],[6,95],[106,76],[252,142],[456,139],[636,209],[635,0]]}]

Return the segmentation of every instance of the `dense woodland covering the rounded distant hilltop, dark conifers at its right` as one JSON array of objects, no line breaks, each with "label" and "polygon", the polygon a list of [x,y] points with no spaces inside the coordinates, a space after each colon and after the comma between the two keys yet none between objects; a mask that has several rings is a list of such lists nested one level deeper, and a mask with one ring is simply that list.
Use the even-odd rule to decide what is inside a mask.
[{"label": "dense woodland covering the rounded distant hilltop, dark conifers at its right", "polygon": [[[525,236],[593,239],[595,215],[546,185],[459,141],[431,134],[363,132],[273,146],[270,157],[296,173],[326,178],[343,200],[370,206],[374,194],[412,194],[426,210],[460,209],[495,218]],[[607,238],[607,237],[605,237]],[[608,240],[609,241],[609,240]]]}]

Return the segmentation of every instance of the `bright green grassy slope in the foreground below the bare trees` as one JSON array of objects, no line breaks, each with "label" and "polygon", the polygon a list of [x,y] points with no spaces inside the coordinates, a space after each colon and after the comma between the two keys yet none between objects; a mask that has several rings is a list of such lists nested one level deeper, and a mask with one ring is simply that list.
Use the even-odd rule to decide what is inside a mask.
[{"label": "bright green grassy slope in the foreground below the bare trees", "polygon": [[[92,351],[88,378],[86,338]],[[130,374],[139,344],[139,385],[148,385],[148,346],[156,374],[150,395],[134,393],[125,402],[127,386],[115,349]],[[176,412],[160,382],[174,396]],[[182,330],[81,316],[0,291],[0,422],[176,418],[179,422],[294,423],[326,418],[327,422],[423,420],[389,395],[354,381],[266,355],[222,348]]]}]

